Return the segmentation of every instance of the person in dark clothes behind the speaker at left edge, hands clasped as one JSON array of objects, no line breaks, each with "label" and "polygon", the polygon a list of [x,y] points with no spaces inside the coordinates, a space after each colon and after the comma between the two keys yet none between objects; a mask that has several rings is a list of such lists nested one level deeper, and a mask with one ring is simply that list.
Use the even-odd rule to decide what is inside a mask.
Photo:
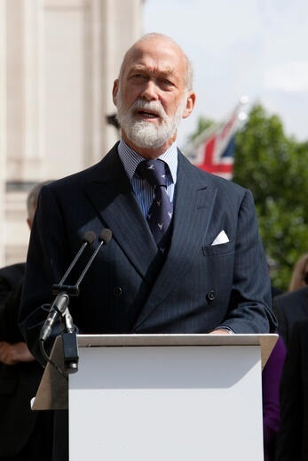
[{"label": "person in dark clothes behind the speaker at left edge, hands clasped", "polygon": [[[36,184],[27,199],[31,229],[39,192]],[[0,461],[49,461],[51,459],[51,412],[32,411],[43,375],[42,366],[28,350],[17,319],[26,264],[0,270]]]}]

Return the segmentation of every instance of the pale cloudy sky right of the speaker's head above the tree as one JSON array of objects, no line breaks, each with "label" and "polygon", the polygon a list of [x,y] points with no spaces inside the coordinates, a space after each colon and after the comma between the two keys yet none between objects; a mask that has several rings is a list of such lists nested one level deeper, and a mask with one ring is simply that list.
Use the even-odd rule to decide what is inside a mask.
[{"label": "pale cloudy sky right of the speaker's head above the tree", "polygon": [[199,117],[224,121],[241,96],[246,110],[261,103],[285,133],[308,140],[307,0],[144,0],[143,32],[162,32],[193,64],[193,114],[178,129],[178,145]]}]

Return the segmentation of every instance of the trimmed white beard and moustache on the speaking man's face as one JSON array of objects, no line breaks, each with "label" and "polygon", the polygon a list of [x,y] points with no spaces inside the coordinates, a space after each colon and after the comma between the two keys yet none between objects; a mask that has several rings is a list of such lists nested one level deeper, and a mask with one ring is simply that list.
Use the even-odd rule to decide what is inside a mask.
[{"label": "trimmed white beard and moustache on the speaking man's face", "polygon": [[[176,133],[186,109],[186,94],[173,117],[167,116],[160,101],[138,99],[130,109],[124,109],[120,89],[116,98],[116,107],[117,119],[130,141],[140,148],[158,149]],[[154,110],[161,117],[162,123],[154,124],[146,120],[135,120],[133,113],[139,108]]]}]

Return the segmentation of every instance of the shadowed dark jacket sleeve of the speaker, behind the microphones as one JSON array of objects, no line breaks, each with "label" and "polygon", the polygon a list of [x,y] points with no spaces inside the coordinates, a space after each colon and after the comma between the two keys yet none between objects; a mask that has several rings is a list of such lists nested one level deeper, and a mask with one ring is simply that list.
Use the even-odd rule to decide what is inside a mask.
[{"label": "shadowed dark jacket sleeve of the speaker, behind the microphones", "polygon": [[[43,187],[30,235],[19,316],[20,330],[28,348],[42,363],[44,359],[39,334],[54,298],[52,284],[60,279],[61,268],[66,267],[67,252],[63,237],[66,230],[63,229],[63,222],[59,204],[51,192]],[[55,336],[57,331],[55,328]],[[46,344],[47,350],[53,340],[54,336]]]}]

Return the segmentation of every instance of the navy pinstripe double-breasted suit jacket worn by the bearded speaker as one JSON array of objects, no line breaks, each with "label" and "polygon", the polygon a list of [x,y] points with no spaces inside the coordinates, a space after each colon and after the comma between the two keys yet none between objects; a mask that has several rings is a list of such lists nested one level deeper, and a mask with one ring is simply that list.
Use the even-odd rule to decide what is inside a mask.
[{"label": "navy pinstripe double-breasted suit jacket worn by the bearded speaker", "polygon": [[[52,284],[63,276],[84,232],[98,236],[103,228],[113,237],[69,304],[81,332],[274,328],[270,280],[249,190],[202,172],[178,151],[171,243],[161,258],[115,146],[99,164],[41,191],[20,311],[21,328],[36,354]],[[228,241],[212,245],[222,230]],[[98,244],[84,251],[69,283],[78,279]]]}]

